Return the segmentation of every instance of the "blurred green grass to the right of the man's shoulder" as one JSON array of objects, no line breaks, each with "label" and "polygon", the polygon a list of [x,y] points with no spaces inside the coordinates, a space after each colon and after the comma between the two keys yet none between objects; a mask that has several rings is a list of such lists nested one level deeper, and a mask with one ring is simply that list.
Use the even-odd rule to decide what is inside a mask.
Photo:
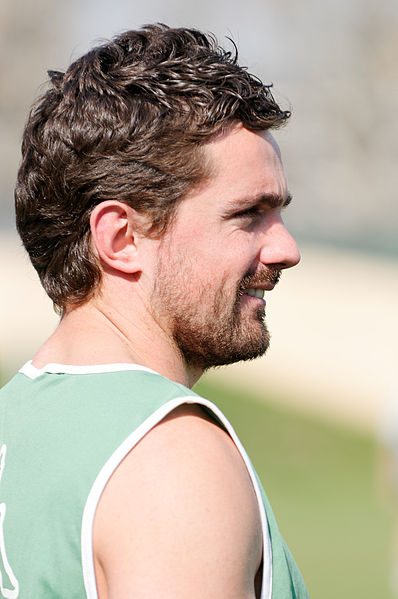
[{"label": "blurred green grass to the right of the man's shoulder", "polygon": [[311,598],[393,599],[375,440],[206,379],[195,391],[245,445]]}]

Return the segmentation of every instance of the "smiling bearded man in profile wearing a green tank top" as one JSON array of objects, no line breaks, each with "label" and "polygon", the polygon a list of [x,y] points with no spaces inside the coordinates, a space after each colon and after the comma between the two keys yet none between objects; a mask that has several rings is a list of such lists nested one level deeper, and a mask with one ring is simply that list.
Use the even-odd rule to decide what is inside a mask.
[{"label": "smiling bearded man in profile wearing a green tank top", "polygon": [[190,387],[269,343],[299,261],[269,132],[288,113],[215,40],[147,26],[34,107],[18,230],[61,313],[0,396],[4,597],[307,597],[231,426]]}]

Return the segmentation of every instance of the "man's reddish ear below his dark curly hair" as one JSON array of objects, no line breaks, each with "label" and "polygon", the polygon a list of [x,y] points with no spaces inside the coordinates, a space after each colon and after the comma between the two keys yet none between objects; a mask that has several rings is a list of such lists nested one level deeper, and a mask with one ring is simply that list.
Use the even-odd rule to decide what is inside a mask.
[{"label": "man's reddish ear below his dark curly hair", "polygon": [[99,258],[119,272],[141,271],[137,241],[143,220],[145,217],[123,202],[106,200],[98,204],[91,213],[90,227]]}]

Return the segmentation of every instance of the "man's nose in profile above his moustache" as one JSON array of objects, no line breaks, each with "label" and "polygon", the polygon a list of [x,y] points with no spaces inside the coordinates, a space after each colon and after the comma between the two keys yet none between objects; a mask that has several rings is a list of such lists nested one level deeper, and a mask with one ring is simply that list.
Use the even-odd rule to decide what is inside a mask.
[{"label": "man's nose in profile above his moustache", "polygon": [[260,261],[268,266],[277,265],[279,269],[283,269],[296,266],[300,258],[297,244],[282,220],[274,222],[265,235]]}]

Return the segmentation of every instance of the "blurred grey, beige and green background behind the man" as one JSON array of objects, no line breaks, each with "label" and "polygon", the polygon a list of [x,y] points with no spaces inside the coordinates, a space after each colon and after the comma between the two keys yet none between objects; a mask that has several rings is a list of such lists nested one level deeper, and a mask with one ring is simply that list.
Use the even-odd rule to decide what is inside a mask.
[{"label": "blurred grey, beige and green background behind the man", "polygon": [[312,597],[398,596],[395,0],[2,0],[2,381],[57,323],[13,222],[28,108],[47,69],[154,21],[232,38],[293,113],[276,137],[302,262],[268,294],[267,357],[209,373],[198,390],[245,442]]}]

